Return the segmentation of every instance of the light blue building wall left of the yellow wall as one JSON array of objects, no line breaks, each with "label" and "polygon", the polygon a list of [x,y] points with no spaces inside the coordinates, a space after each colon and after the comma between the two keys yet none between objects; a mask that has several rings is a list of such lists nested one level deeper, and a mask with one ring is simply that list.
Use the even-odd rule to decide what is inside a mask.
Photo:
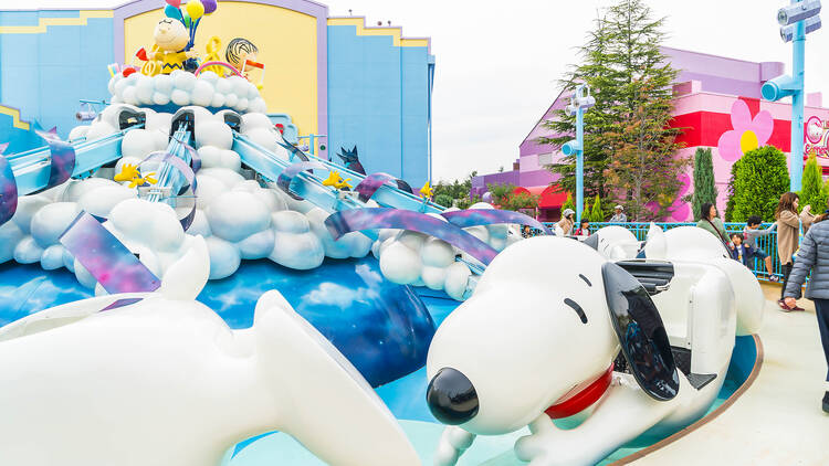
[{"label": "light blue building wall left of the yellow wall", "polygon": [[[23,27],[0,33],[0,105],[19,108],[23,120],[56,126],[62,137],[78,125],[74,115],[80,98],[108,98],[106,65],[114,62],[113,19],[80,15],[80,11],[0,12],[0,27]],[[32,32],[49,18],[74,18],[77,24]],[[0,139],[10,140],[18,131],[4,123],[0,121]]]}]

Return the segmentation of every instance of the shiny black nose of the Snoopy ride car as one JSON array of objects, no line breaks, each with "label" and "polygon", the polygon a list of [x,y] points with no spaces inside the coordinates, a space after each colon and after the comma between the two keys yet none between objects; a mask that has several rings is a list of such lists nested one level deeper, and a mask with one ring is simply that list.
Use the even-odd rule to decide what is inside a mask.
[{"label": "shiny black nose of the Snoopy ride car", "polygon": [[443,424],[458,425],[478,414],[478,393],[466,375],[443,368],[429,382],[426,402],[434,417]]}]

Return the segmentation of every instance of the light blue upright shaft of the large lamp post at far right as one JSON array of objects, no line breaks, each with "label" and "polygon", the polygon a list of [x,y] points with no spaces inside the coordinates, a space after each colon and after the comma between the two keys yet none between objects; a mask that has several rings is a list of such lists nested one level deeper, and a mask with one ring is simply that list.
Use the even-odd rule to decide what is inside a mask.
[{"label": "light blue upright shaft of the large lamp post at far right", "polygon": [[[798,3],[793,0],[791,3]],[[802,21],[795,24],[795,39],[793,41],[791,77],[797,91],[791,95],[791,173],[790,187],[793,192],[800,191],[804,174],[804,100],[805,100],[805,55],[806,55],[806,25]]]}]

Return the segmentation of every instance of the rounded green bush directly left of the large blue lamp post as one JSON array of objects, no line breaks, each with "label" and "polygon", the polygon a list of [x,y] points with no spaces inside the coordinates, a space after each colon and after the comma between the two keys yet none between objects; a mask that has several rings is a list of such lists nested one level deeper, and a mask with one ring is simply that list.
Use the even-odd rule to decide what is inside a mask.
[{"label": "rounded green bush directly left of the large blue lamp post", "polygon": [[789,189],[786,156],[772,146],[748,151],[739,159],[734,178],[732,222],[745,222],[751,215],[774,221],[780,195]]}]

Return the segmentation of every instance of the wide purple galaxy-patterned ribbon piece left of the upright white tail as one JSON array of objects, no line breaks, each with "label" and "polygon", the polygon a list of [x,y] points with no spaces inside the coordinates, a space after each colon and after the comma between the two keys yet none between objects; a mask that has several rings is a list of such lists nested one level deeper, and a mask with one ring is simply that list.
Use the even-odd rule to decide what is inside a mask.
[{"label": "wide purple galaxy-patterned ribbon piece left of the upright white tail", "polygon": [[161,286],[132,251],[86,212],[63,232],[61,244],[109,294],[149,293]]}]

